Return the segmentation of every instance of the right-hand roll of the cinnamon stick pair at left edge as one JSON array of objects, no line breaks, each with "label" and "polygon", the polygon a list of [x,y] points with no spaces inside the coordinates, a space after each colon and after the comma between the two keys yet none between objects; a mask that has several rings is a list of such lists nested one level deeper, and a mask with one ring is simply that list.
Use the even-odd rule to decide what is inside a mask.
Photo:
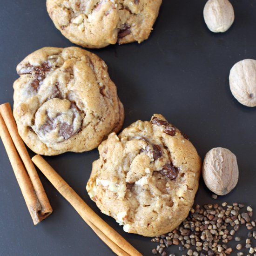
[{"label": "right-hand roll of the cinnamon stick pair at left edge", "polygon": [[9,103],[0,105],[0,114],[3,117],[3,120],[7,126],[9,134],[11,135],[14,145],[19,152],[20,158],[22,159],[22,162],[27,169],[27,173],[30,177],[30,180],[34,187],[34,191],[41,205],[41,209],[38,211],[38,219],[40,222],[41,220],[49,216],[53,212],[53,209],[47,198],[47,195],[34,167],[34,164],[31,161],[30,156],[28,155],[27,148],[18,133],[18,128]]}]

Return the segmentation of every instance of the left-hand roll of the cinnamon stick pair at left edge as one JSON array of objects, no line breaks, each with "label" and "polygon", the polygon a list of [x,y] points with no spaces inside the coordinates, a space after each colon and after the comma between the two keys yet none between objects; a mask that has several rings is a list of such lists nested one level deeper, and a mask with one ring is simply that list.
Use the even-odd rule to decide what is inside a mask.
[{"label": "left-hand roll of the cinnamon stick pair at left edge", "polygon": [[23,166],[23,163],[20,160],[20,157],[16,151],[16,148],[13,144],[11,136],[8,132],[8,129],[1,115],[0,115],[0,137],[6,148],[7,155],[13,167],[14,174],[19,183],[21,193],[27,204],[27,209],[33,219],[34,224],[36,225],[41,220],[41,215],[40,215],[41,205],[37,199],[33,185],[27,175],[27,172]]}]

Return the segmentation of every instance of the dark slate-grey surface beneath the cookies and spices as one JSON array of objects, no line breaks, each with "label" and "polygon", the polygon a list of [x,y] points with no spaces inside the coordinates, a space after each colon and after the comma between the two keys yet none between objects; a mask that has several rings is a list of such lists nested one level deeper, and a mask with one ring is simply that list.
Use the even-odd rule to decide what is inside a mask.
[{"label": "dark slate-grey surface beneath the cookies and spices", "polygon": [[[125,107],[124,127],[161,113],[189,135],[202,159],[211,148],[229,148],[237,156],[240,178],[236,189],[217,202],[256,207],[256,108],[236,101],[228,79],[237,61],[256,59],[256,0],[231,0],[236,18],[224,34],[207,29],[202,16],[205,2],[163,0],[148,40],[91,51],[108,64]],[[73,44],[54,27],[45,0],[0,0],[0,4],[0,103],[13,104],[16,65],[41,47]],[[97,214],[143,255],[151,255],[155,244],[150,238],[124,233],[89,199],[85,187],[97,158],[94,149],[46,159]],[[46,178],[40,177],[54,213],[34,226],[0,142],[0,255],[113,255]],[[201,181],[196,202],[216,202],[210,195]]]}]

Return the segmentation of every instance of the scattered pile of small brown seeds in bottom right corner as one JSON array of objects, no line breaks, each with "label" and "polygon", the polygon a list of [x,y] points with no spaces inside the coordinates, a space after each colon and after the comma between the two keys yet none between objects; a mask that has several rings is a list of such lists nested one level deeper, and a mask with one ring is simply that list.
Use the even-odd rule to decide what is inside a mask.
[{"label": "scattered pile of small brown seeds in bottom right corner", "polygon": [[[252,245],[253,240],[256,240],[256,231],[252,230],[255,229],[256,220],[251,221],[252,208],[248,206],[246,211],[243,210],[244,208],[244,204],[227,205],[226,202],[222,205],[206,204],[203,208],[196,205],[178,228],[151,240],[159,243],[152,253],[167,256],[164,249],[177,245],[181,253],[186,250],[189,256],[230,255],[234,250],[227,243],[233,238],[236,242],[241,241],[241,237],[234,235],[242,224],[249,230],[245,248],[250,255],[256,256],[256,247]],[[236,249],[242,249],[242,244],[238,243]],[[175,256],[175,254],[169,256]],[[182,256],[186,255],[182,254]],[[243,256],[243,252],[238,252],[237,256]]]}]

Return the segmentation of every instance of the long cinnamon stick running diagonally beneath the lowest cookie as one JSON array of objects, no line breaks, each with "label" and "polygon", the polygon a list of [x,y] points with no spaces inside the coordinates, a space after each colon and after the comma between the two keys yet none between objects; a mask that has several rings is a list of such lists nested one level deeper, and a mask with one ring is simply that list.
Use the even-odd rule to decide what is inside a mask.
[{"label": "long cinnamon stick running diagonally beneath the lowest cookie", "polygon": [[[85,222],[89,226],[94,225],[96,230],[104,234],[105,241],[108,246],[111,247],[115,243],[120,249],[131,256],[142,256],[130,243],[128,243],[115,229],[111,228],[101,217],[99,217],[75,191],[65,182],[59,174],[40,156],[35,155],[32,158],[34,164],[41,170],[41,172],[47,177],[47,179],[54,185],[54,187],[65,197],[65,199],[74,207]],[[99,234],[99,233],[98,233]],[[98,235],[97,234],[97,235]],[[112,243],[111,243],[111,242]],[[114,251],[114,250],[113,250]],[[115,252],[118,254],[117,252]],[[121,255],[121,254],[118,254]]]}]

